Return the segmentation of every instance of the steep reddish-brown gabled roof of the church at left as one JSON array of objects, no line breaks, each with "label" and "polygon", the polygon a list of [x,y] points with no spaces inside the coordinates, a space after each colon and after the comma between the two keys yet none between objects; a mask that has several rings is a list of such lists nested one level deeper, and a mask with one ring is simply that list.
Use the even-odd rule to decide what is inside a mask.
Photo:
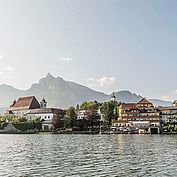
[{"label": "steep reddish-brown gabled roof of the church at left", "polygon": [[40,108],[40,104],[35,98],[35,96],[21,97],[17,102],[9,109],[11,111],[15,110],[28,110]]}]

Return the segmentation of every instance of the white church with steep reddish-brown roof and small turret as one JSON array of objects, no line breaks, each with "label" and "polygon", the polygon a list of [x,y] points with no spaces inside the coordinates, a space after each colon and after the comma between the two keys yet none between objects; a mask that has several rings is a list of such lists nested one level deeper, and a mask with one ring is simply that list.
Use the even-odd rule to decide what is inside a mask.
[{"label": "white church with steep reddish-brown roof and small turret", "polygon": [[21,97],[7,110],[9,115],[26,117],[27,120],[40,118],[43,130],[52,129],[52,119],[63,116],[64,110],[58,108],[48,108],[47,101],[43,98],[40,103],[35,96]]}]

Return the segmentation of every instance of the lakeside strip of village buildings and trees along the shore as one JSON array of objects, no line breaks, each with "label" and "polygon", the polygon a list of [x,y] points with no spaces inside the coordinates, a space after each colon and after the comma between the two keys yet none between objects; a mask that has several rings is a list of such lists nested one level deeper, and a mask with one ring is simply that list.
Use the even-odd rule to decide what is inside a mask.
[{"label": "lakeside strip of village buildings and trees along the shore", "polygon": [[[0,122],[2,132],[9,124],[11,128],[8,131],[13,127],[12,130],[26,132],[177,132],[177,101],[169,107],[155,107],[146,98],[135,103],[121,103],[113,93],[107,102],[84,102],[76,108],[63,110],[48,107],[45,98],[39,102],[35,96],[28,96],[14,100],[6,113],[1,115]],[[23,128],[19,128],[21,126]]]}]

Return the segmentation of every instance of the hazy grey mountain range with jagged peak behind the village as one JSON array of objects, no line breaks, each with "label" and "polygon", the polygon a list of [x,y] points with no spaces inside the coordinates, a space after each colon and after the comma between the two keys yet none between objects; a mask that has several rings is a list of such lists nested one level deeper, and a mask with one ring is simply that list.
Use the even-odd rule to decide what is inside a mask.
[{"label": "hazy grey mountain range with jagged peak behind the village", "polygon": [[[131,93],[130,91],[119,91],[114,92],[114,94],[117,100],[121,102],[137,102],[142,98],[142,96]],[[76,106],[76,104],[84,101],[96,100],[103,102],[111,98],[111,95],[47,74],[39,83],[33,84],[27,90],[19,90],[5,84],[0,85],[0,107],[8,107],[14,99],[30,95],[36,96],[39,101],[45,97],[48,106],[60,108]],[[169,106],[172,104],[171,102],[158,99],[151,99],[150,101],[156,106]]]}]

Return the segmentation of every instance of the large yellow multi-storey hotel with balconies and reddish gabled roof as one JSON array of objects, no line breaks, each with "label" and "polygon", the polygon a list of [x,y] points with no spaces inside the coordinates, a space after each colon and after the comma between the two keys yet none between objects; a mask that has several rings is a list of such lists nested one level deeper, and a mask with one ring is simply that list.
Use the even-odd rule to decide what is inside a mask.
[{"label": "large yellow multi-storey hotel with balconies and reddish gabled roof", "polygon": [[113,127],[137,128],[139,133],[160,133],[160,113],[146,98],[137,103],[123,103],[118,108],[119,117]]}]

